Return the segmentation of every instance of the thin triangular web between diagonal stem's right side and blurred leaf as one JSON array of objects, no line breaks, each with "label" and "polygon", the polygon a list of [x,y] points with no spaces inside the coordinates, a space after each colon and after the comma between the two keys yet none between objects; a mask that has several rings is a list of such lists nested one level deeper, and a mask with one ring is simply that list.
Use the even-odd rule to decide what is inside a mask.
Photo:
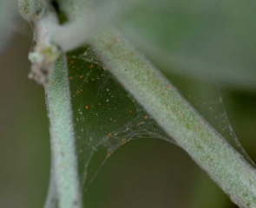
[{"label": "thin triangular web between diagonal stem's right side and blurred leaf", "polygon": [[[224,102],[226,97],[220,93],[220,87],[216,75],[209,75],[213,77],[213,81],[210,83],[197,82],[194,84],[190,82],[187,87],[184,85],[180,89],[181,94],[187,98],[194,108],[211,124],[222,138],[226,140],[233,148],[238,151],[244,159],[246,159],[250,165],[255,167],[253,160],[246,153],[243,146],[240,144],[240,140],[236,136],[230,120],[226,113],[226,107]],[[194,86],[194,87],[191,87]]]}]

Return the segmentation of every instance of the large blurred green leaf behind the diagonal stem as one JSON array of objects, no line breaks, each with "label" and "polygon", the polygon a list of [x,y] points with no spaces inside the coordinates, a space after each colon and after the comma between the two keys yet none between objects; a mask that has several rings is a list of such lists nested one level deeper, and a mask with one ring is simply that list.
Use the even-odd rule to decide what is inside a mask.
[{"label": "large blurred green leaf behind the diagonal stem", "polygon": [[167,75],[255,91],[253,8],[251,0],[144,0],[116,24]]}]

